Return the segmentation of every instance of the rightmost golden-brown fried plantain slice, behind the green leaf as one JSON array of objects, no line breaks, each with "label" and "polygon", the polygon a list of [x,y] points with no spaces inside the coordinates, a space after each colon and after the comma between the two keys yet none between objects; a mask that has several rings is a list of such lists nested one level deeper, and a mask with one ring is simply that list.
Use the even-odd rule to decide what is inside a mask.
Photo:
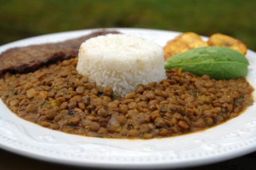
[{"label": "rightmost golden-brown fried plantain slice, behind the green leaf", "polygon": [[226,46],[233,50],[237,50],[243,55],[246,54],[246,51],[247,51],[247,46],[243,44],[243,42],[221,33],[214,33],[212,36],[210,36],[208,40],[208,45],[209,46]]}]

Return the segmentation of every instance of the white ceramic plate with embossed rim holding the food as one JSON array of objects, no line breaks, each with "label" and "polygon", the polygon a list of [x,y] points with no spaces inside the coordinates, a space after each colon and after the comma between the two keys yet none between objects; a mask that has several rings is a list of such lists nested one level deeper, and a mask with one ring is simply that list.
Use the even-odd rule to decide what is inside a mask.
[{"label": "white ceramic plate with embossed rim holding the food", "polygon": [[[111,28],[154,40],[160,45],[178,32]],[[15,41],[0,47],[56,42],[86,35],[96,29],[55,33]],[[203,37],[205,40],[206,37]],[[247,79],[256,89],[256,53],[249,50]],[[256,96],[254,91],[254,96]],[[255,98],[254,98],[255,99]],[[225,124],[179,137],[130,140],[82,137],[42,128],[24,121],[0,101],[0,147],[49,162],[104,168],[177,168],[216,163],[256,151],[256,104]]]}]

